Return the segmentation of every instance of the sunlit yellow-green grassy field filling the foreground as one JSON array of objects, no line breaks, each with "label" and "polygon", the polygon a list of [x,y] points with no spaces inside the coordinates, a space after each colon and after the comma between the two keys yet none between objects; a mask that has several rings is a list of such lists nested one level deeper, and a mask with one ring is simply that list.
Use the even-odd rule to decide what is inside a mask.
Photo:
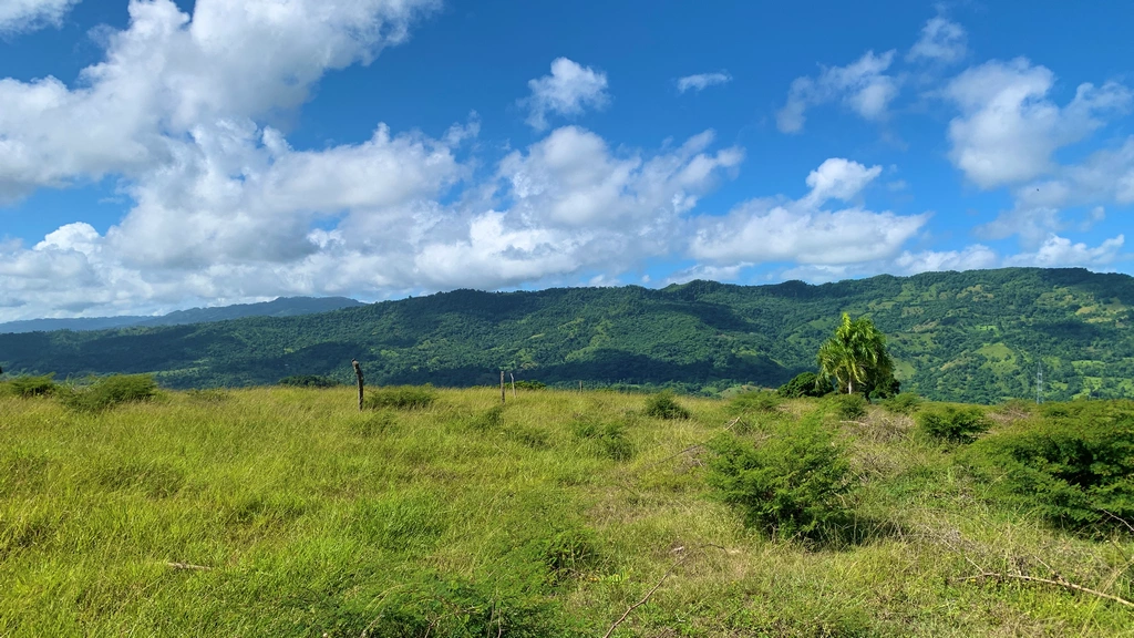
[{"label": "sunlit yellow-green grassy field filling the foreground", "polygon": [[[603,636],[651,591],[613,636],[1134,636],[1092,594],[958,580],[1129,599],[1134,535],[1005,504],[908,417],[678,401],[692,418],[603,392],[0,397],[0,636]],[[706,482],[706,442],[805,418],[849,448],[841,540],[746,528]]]}]

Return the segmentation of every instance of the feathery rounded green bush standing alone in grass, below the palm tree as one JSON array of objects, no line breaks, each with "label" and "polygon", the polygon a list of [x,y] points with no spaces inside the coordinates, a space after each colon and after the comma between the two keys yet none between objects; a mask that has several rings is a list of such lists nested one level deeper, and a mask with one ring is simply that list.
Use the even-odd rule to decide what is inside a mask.
[{"label": "feathery rounded green bush standing alone in grass, below the palm tree", "polygon": [[759,445],[722,436],[710,447],[709,482],[745,524],[790,538],[823,538],[852,513],[847,453],[815,419],[781,426]]}]

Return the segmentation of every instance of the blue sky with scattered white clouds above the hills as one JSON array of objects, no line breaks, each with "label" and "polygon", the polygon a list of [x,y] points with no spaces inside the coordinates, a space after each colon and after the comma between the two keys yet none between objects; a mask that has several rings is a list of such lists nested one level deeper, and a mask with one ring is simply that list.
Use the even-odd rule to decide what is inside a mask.
[{"label": "blue sky with scattered white clouds above the hills", "polygon": [[0,320],[1131,272],[1123,2],[0,0]]}]

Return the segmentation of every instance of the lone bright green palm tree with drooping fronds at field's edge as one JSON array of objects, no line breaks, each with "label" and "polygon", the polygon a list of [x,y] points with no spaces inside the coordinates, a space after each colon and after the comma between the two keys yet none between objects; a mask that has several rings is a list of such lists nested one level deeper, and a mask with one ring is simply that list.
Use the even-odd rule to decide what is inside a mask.
[{"label": "lone bright green palm tree with drooping fronds at field's edge", "polygon": [[833,378],[841,392],[854,394],[855,385],[870,388],[894,372],[886,352],[886,336],[866,317],[850,319],[846,312],[835,335],[819,349],[819,373]]}]

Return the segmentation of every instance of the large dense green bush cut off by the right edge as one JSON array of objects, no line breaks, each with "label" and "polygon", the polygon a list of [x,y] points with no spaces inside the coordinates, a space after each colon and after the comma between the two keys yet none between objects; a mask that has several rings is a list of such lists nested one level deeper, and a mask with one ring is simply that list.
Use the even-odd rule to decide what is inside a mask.
[{"label": "large dense green bush cut off by the right edge", "polygon": [[1081,530],[1134,521],[1134,402],[1049,404],[979,440],[979,475],[1048,520]]}]

